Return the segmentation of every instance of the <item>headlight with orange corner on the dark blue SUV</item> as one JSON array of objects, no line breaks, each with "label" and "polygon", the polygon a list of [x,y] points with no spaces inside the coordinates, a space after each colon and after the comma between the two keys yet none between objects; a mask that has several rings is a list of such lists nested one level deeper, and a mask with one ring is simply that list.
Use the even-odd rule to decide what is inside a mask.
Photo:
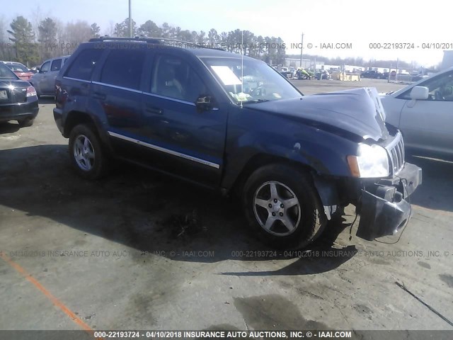
[{"label": "headlight with orange corner on the dark blue SUV", "polygon": [[361,178],[389,176],[389,157],[384,147],[360,144],[357,154],[358,156],[348,156],[352,176]]}]

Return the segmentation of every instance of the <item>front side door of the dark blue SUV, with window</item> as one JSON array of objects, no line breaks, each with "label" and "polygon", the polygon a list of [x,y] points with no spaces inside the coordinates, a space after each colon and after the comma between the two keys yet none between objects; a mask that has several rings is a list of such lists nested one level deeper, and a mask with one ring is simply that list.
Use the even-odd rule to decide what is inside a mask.
[{"label": "front side door of the dark blue SUV, with window", "polygon": [[[143,137],[152,162],[185,179],[218,186],[227,113],[214,101],[216,86],[202,63],[186,51],[150,51],[150,55],[142,112]],[[204,110],[195,104],[200,97],[212,99]]]}]

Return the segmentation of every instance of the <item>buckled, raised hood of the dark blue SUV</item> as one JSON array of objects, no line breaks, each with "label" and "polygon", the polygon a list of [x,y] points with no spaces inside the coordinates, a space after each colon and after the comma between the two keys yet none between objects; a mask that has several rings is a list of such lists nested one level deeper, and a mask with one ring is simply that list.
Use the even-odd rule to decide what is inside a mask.
[{"label": "buckled, raised hood of the dark blue SUV", "polygon": [[377,90],[351,89],[282,101],[251,104],[249,108],[301,118],[316,128],[344,130],[364,140],[386,140],[389,131]]}]

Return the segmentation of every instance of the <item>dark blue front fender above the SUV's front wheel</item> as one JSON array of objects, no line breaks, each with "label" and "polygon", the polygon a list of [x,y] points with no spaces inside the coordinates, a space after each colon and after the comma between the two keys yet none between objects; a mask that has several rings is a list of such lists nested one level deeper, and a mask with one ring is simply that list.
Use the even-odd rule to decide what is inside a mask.
[{"label": "dark blue front fender above the SUV's front wheel", "polygon": [[246,111],[241,119],[231,118],[234,124],[229,125],[226,138],[223,188],[231,188],[248,162],[259,155],[309,166],[319,175],[351,176],[347,156],[356,154],[357,142],[279,115],[266,114],[265,119],[254,115]]}]

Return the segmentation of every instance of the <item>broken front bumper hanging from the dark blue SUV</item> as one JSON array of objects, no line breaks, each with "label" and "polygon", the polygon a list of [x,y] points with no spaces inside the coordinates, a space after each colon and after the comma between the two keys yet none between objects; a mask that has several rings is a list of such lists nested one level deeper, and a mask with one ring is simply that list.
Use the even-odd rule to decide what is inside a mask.
[{"label": "broken front bumper hanging from the dark blue SUV", "polygon": [[411,217],[411,205],[406,199],[421,183],[422,169],[406,163],[398,176],[365,186],[357,237],[372,241],[396,234]]}]

